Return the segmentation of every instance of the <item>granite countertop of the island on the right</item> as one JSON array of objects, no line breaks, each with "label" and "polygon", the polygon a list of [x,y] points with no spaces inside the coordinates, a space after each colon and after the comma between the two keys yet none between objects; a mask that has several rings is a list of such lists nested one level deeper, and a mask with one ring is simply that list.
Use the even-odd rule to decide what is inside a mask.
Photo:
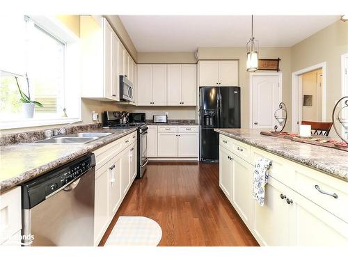
[{"label": "granite countertop of the island on the right", "polygon": [[260,129],[214,129],[232,139],[267,150],[348,182],[348,153],[260,134]]}]

